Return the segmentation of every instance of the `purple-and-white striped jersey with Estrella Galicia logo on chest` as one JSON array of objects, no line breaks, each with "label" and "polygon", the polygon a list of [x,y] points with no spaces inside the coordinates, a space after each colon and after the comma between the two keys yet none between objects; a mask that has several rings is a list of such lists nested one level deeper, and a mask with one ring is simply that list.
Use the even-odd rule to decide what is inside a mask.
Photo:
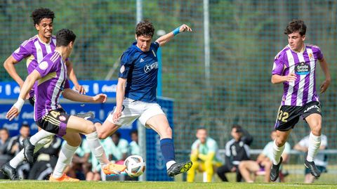
[{"label": "purple-and-white striped jersey with Estrella Galicia logo on chest", "polygon": [[284,82],[282,105],[303,106],[311,101],[319,101],[316,93],[316,65],[323,54],[318,46],[305,44],[303,53],[296,53],[289,46],[275,56],[272,74],[288,75],[293,72],[297,79]]}]

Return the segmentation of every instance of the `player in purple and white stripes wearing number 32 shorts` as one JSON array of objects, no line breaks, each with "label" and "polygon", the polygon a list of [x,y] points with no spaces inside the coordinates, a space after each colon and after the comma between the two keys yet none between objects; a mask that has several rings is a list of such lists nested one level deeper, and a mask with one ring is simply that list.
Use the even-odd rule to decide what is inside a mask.
[{"label": "player in purple and white stripes wearing number 32 shorts", "polygon": [[288,36],[288,45],[275,56],[272,68],[272,84],[283,83],[284,95],[275,123],[277,138],[272,149],[271,181],[276,181],[279,176],[284,144],[300,117],[305,119],[311,129],[305,167],[310,169],[312,176],[318,178],[321,175],[314,162],[322,141],[322,115],[316,92],[317,60],[326,78],[320,86],[321,93],[328,89],[331,76],[320,48],[304,43],[306,29],[303,20],[289,22],[284,31],[284,34]]}]

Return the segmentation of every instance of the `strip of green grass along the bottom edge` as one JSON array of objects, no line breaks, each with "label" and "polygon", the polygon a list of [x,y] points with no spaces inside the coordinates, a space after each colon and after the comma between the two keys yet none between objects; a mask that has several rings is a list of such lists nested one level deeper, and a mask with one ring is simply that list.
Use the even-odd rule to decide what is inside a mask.
[{"label": "strip of green grass along the bottom edge", "polygon": [[185,183],[185,182],[121,182],[121,181],[81,181],[79,183],[49,183],[48,181],[0,181],[0,188],[118,188],[118,189],[215,189],[215,188],[337,188],[337,185],[329,184],[299,184],[299,183]]}]

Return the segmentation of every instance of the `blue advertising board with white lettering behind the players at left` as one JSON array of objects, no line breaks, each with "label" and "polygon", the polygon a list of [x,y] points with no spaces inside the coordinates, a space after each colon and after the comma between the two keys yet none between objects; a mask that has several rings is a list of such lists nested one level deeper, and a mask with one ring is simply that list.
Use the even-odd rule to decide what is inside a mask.
[{"label": "blue advertising board with white lettering behind the players at left", "polygon": [[[68,114],[74,115],[80,112],[91,111],[95,117],[101,121],[105,121],[115,106],[117,81],[80,81],[79,82],[86,89],[86,94],[95,96],[98,93],[105,93],[108,96],[107,103],[93,104],[93,103],[74,103],[69,100],[61,99],[60,104],[67,111]],[[74,86],[70,84],[74,89]],[[11,136],[19,134],[20,125],[22,122],[29,124],[31,135],[37,132],[37,125],[34,122],[33,107],[26,100],[23,105],[20,115],[11,122],[6,119],[7,111],[15,103],[20,93],[20,87],[15,82],[0,82],[0,128],[7,128]],[[166,113],[169,119],[169,124],[173,128],[173,100],[169,98],[158,98],[158,103]],[[133,122],[131,125],[124,125],[118,129],[121,133],[121,138],[131,141],[130,132],[138,129],[138,122]],[[152,129],[146,129],[146,180],[147,181],[173,181],[166,175],[166,164],[164,157],[160,150],[159,135]]]}]

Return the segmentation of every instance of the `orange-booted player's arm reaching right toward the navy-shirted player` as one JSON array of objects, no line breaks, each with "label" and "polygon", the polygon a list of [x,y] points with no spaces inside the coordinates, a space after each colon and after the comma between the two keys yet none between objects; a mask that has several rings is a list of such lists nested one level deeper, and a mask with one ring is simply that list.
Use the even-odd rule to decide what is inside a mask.
[{"label": "orange-booted player's arm reaching right toward the navy-shirted player", "polygon": [[86,96],[69,88],[63,91],[62,96],[68,100],[82,103],[105,103],[105,101],[107,101],[107,95],[103,93],[96,96]]}]

